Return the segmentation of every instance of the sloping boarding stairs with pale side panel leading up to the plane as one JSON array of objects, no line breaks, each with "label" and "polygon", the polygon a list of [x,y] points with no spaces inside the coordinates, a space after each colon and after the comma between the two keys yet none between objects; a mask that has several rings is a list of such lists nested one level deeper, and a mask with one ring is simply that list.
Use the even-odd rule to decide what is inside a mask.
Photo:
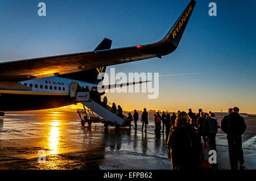
[{"label": "sloping boarding stairs with pale side panel leading up to the plane", "polygon": [[[77,92],[80,94],[88,93],[88,92]],[[77,94],[77,96],[79,96]],[[97,103],[96,101],[92,99],[86,99],[83,101],[80,101],[82,105],[84,105],[84,111],[88,112],[90,111],[92,114],[93,112],[96,113],[98,116],[102,117],[106,121],[110,121],[110,125],[114,126],[121,126],[121,127],[130,127],[130,120],[127,119],[127,116],[123,115],[123,118],[117,116],[115,113],[113,113],[112,110],[112,103],[108,102],[106,107],[102,106],[103,99],[101,98],[101,103]],[[81,110],[80,110],[81,111]],[[90,113],[89,112],[89,113]],[[126,113],[126,112],[124,112]],[[102,121],[101,121],[102,122]],[[102,122],[103,123],[103,122]]]}]

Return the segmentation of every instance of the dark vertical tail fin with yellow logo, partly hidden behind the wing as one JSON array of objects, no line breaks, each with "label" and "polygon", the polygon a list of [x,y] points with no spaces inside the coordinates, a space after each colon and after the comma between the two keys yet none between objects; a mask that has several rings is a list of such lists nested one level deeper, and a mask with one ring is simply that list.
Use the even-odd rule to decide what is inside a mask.
[{"label": "dark vertical tail fin with yellow logo, partly hidden behind the wing", "polygon": [[[112,45],[112,40],[105,38],[104,40],[101,41],[100,44],[98,44],[98,46],[94,49],[94,51],[110,49],[111,45]],[[78,81],[84,81],[84,82],[89,82],[89,83],[98,85],[98,83],[104,79],[104,77],[103,76],[101,77],[101,75],[102,75],[102,73],[105,73],[105,71],[106,71],[106,67],[103,66],[103,67],[97,68],[97,69],[79,71],[76,73],[63,74],[63,75],[60,75],[60,77],[76,79]],[[100,74],[101,79],[98,79],[98,74]]]}]

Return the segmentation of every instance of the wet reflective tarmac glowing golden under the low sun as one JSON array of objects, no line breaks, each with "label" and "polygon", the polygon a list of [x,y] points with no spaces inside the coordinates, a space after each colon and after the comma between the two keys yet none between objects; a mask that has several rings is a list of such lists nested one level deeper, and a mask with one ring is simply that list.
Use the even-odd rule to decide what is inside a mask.
[{"label": "wet reflective tarmac glowing golden under the low sun", "polygon": [[[256,169],[255,123],[246,119],[242,136],[245,169]],[[228,142],[220,129],[216,141],[217,169],[229,169]],[[100,123],[81,127],[75,112],[6,112],[0,117],[0,169],[169,170],[166,142],[165,133],[154,134],[152,121],[144,133]],[[38,162],[42,151],[46,163]]]}]

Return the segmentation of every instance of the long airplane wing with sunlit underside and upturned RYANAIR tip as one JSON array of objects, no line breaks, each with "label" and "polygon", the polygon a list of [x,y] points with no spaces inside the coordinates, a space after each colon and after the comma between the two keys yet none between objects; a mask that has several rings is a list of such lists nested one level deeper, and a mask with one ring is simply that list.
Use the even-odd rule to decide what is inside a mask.
[{"label": "long airplane wing with sunlit underside and upturned RYANAIR tip", "polygon": [[161,58],[173,52],[177,48],[177,45],[179,45],[179,41],[187,26],[195,4],[196,2],[192,0],[176,20],[167,35],[156,43],[3,62],[0,63],[0,81],[19,82],[28,79],[96,69],[102,66],[123,64],[147,58]]}]

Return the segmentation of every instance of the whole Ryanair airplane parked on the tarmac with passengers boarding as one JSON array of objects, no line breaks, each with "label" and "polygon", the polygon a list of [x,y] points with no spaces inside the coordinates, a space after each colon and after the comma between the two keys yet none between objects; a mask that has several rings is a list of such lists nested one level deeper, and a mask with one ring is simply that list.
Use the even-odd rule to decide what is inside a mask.
[{"label": "whole Ryanair airplane parked on the tarmac with passengers boarding", "polygon": [[[110,49],[112,40],[104,39],[91,52],[32,58],[0,63],[0,111],[30,111],[78,103],[71,98],[71,87],[98,85],[98,74],[106,66],[148,58],[162,58],[179,45],[196,2],[185,10],[164,38],[156,43]],[[137,82],[138,83],[138,82]],[[141,82],[139,82],[141,83]],[[106,86],[108,89],[108,86]]]}]

